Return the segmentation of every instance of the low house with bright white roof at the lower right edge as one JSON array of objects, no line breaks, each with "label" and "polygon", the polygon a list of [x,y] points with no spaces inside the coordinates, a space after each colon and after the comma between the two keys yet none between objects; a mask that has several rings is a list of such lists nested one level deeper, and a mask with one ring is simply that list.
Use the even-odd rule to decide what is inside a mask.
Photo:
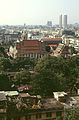
[{"label": "low house with bright white roof at the lower right edge", "polygon": [[78,108],[79,107],[79,96],[70,96],[65,92],[53,92],[54,98],[60,101],[64,105],[64,109]]}]

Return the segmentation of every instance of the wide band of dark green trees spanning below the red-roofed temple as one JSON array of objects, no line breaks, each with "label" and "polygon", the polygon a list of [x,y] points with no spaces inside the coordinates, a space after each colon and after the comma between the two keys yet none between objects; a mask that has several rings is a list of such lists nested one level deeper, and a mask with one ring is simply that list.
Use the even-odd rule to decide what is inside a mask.
[{"label": "wide band of dark green trees spanning below the red-roofed temple", "polygon": [[[34,71],[34,74],[30,74],[30,71]],[[79,56],[65,59],[48,55],[38,61],[30,58],[17,58],[15,60],[0,58],[1,74],[5,73],[6,75],[7,72],[14,72],[16,84],[31,83],[33,93],[44,96],[51,96],[53,91],[62,90],[76,93],[79,89],[78,71]]]}]

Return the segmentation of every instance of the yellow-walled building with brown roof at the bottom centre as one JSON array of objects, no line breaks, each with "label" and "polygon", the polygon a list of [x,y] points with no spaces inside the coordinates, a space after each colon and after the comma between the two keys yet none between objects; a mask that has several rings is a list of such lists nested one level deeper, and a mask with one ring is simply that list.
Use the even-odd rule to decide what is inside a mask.
[{"label": "yellow-walled building with brown roof at the bottom centre", "polygon": [[43,99],[41,107],[25,110],[21,120],[64,120],[64,106],[54,98]]}]

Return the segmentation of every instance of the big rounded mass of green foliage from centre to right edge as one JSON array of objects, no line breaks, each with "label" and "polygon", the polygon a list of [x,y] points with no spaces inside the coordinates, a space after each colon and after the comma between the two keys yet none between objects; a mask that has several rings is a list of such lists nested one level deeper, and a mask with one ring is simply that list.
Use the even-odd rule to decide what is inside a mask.
[{"label": "big rounded mass of green foliage from centre to right edge", "polygon": [[79,85],[78,57],[64,59],[47,56],[38,61],[35,66],[36,75],[33,88],[36,94],[52,95],[53,91],[73,93]]}]

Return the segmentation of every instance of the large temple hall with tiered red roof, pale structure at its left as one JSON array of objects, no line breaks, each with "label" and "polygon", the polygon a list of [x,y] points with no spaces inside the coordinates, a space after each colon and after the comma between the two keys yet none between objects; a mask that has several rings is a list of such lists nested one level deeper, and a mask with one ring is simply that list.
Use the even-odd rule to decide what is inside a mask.
[{"label": "large temple hall with tiered red roof, pale structure at its left", "polygon": [[9,55],[16,57],[41,58],[45,55],[45,46],[42,41],[28,39],[27,32],[24,31],[21,38],[16,42],[16,46],[10,47]]}]

